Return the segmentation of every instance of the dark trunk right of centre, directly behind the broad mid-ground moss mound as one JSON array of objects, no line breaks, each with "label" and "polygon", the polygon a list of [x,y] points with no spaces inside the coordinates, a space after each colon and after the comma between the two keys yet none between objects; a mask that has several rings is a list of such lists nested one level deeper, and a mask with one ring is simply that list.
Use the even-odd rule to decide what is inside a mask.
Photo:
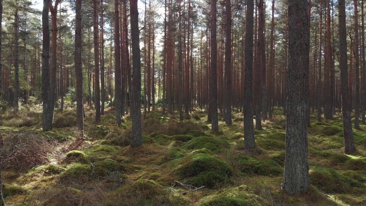
[{"label": "dark trunk right of centre, directly behind the broad mid-ground moss mound", "polygon": [[210,26],[210,110],[212,114],[212,130],[219,129],[219,118],[217,117],[217,8],[216,1],[211,0],[211,26]]}]

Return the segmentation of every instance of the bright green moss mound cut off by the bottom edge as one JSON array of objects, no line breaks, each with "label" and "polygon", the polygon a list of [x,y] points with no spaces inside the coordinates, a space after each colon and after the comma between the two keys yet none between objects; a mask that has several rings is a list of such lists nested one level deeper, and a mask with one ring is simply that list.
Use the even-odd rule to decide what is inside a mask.
[{"label": "bright green moss mound cut off by the bottom edge", "polygon": [[[245,190],[243,189],[245,188]],[[246,190],[245,185],[224,191],[203,198],[199,206],[262,206],[266,205],[265,201],[259,196],[254,195]]]}]

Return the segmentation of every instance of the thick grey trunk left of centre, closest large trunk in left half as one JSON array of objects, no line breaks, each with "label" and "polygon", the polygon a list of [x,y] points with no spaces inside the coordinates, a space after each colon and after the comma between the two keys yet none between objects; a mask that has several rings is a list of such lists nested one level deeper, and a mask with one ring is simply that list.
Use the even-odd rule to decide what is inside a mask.
[{"label": "thick grey trunk left of centre, closest large trunk in left half", "polygon": [[132,40],[132,147],[142,145],[141,129],[141,62],[140,62],[140,30],[138,28],[137,0],[130,0],[131,40]]}]

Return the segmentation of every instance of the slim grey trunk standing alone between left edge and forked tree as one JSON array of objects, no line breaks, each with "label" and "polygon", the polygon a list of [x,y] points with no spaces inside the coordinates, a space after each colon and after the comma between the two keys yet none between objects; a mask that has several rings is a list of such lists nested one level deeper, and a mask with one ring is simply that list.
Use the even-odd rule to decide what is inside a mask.
[{"label": "slim grey trunk standing alone between left edge and forked tree", "polygon": [[14,109],[19,109],[19,19],[18,19],[18,8],[15,9],[14,15]]}]

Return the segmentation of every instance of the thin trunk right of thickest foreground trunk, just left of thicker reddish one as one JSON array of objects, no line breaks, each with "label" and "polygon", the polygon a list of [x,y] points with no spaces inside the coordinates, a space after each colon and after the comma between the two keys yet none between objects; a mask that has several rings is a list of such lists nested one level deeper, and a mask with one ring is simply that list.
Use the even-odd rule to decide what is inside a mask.
[{"label": "thin trunk right of thickest foreground trunk, just left of thicker reddish one", "polygon": [[321,67],[322,67],[322,63],[321,63],[321,57],[322,57],[322,0],[320,0],[320,20],[319,20],[319,56],[318,56],[318,83],[317,83],[317,89],[318,89],[318,101],[317,101],[317,110],[318,110],[318,121],[321,121],[321,99],[322,99],[322,82],[321,82]]}]

